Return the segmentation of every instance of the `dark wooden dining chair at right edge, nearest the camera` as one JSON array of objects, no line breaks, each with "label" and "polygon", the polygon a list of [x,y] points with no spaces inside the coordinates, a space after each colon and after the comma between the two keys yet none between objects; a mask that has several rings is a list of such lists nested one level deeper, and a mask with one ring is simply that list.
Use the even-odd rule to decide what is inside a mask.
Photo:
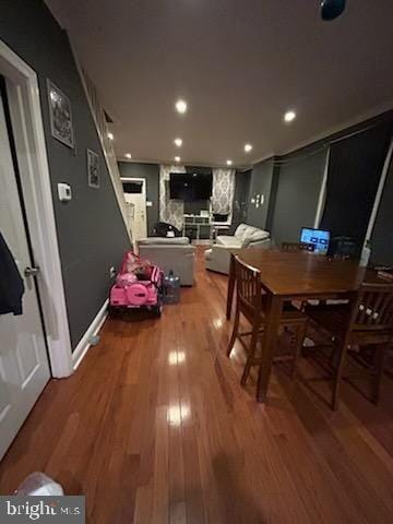
[{"label": "dark wooden dining chair at right edge, nearest the camera", "polygon": [[[343,379],[348,348],[368,346],[374,348],[374,362],[362,361],[362,369],[373,376],[372,396],[378,403],[386,349],[393,344],[393,284],[364,283],[359,293],[347,305],[306,308],[306,313],[331,335],[336,349],[333,370],[332,408],[338,407],[340,385]],[[359,356],[356,356],[359,360]],[[347,379],[350,377],[347,376]]]}]

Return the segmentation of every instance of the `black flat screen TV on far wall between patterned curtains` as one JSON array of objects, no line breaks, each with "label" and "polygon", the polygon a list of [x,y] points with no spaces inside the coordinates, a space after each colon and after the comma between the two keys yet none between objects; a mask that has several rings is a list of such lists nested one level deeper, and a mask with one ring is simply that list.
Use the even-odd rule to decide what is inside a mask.
[{"label": "black flat screen TV on far wall between patterned curtains", "polygon": [[194,202],[209,200],[212,196],[213,176],[205,172],[171,172],[169,178],[169,195],[172,200]]}]

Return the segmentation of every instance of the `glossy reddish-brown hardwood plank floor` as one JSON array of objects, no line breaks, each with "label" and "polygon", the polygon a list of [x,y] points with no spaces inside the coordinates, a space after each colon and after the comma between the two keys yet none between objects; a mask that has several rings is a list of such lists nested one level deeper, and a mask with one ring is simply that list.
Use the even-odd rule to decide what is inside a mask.
[{"label": "glossy reddish-brown hardwood plank floor", "polygon": [[[340,410],[311,359],[297,381],[229,360],[227,278],[205,272],[160,320],[107,320],[78,372],[46,388],[0,464],[0,493],[43,471],[86,495],[88,522],[393,522],[392,379],[381,403],[343,385]],[[313,380],[307,380],[311,379]]]}]

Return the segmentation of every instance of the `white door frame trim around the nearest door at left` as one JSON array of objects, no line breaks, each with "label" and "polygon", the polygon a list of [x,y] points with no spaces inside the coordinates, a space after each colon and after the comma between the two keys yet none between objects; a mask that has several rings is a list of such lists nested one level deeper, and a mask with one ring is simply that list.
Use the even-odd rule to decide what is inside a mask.
[{"label": "white door frame trim around the nearest door at left", "polygon": [[1,39],[0,74],[5,79],[34,263],[40,267],[37,284],[52,377],[69,377],[73,372],[72,347],[38,79]]}]

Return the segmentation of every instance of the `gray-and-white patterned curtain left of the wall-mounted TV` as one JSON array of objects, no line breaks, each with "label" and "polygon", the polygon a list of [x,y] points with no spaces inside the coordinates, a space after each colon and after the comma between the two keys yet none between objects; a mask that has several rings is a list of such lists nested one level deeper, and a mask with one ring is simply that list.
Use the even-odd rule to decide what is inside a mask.
[{"label": "gray-and-white patterned curtain left of the wall-mounted TV", "polygon": [[186,172],[183,166],[159,166],[159,221],[167,222],[181,230],[184,214],[184,203],[169,198],[169,175]]}]

